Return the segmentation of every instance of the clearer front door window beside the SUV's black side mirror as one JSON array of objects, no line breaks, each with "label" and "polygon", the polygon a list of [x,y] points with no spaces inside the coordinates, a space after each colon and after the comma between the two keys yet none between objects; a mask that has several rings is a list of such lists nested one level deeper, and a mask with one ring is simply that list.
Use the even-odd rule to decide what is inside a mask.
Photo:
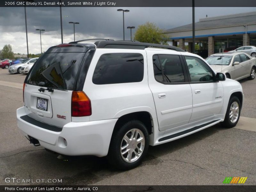
[{"label": "clearer front door window beside the SUV's black side mirror", "polygon": [[185,56],[191,82],[213,82],[211,68],[197,57]]}]

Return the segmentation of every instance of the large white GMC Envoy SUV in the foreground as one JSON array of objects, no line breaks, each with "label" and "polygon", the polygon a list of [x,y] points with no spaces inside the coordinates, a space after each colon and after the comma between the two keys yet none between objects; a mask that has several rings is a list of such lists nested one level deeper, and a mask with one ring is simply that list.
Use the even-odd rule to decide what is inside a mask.
[{"label": "large white GMC Envoy SUV in the foreground", "polygon": [[108,156],[120,169],[137,166],[148,145],[220,122],[235,126],[244,100],[240,83],[198,55],[110,40],[49,48],[28,73],[23,97],[18,127],[35,146]]}]

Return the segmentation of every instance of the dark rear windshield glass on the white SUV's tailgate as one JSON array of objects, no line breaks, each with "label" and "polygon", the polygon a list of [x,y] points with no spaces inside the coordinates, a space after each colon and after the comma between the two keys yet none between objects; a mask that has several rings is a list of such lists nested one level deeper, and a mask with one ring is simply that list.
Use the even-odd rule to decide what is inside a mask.
[{"label": "dark rear windshield glass on the white SUV's tailgate", "polygon": [[84,52],[44,53],[32,68],[27,84],[73,90]]}]

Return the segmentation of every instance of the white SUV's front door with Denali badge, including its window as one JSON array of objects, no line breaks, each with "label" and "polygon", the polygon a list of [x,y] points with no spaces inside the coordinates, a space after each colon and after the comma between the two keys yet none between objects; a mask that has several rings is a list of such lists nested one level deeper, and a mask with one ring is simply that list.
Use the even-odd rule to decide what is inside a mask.
[{"label": "white SUV's front door with Denali badge, including its window", "polygon": [[206,118],[212,119],[222,108],[223,86],[220,82],[214,81],[214,72],[203,60],[192,56],[185,56],[185,60],[187,64],[196,63],[196,66],[189,69],[193,96],[193,112],[189,123]]}]

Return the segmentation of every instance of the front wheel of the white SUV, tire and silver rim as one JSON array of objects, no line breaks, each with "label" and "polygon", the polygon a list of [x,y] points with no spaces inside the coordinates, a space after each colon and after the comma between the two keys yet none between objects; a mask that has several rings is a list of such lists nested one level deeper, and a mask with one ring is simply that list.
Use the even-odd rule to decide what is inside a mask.
[{"label": "front wheel of the white SUV, tire and silver rim", "polygon": [[[237,111],[237,109],[238,109],[238,111]],[[233,110],[233,111],[231,111],[231,110]],[[235,115],[231,116],[232,115],[232,114],[230,114],[231,112],[232,112],[232,114],[235,114]],[[239,99],[236,96],[231,97],[228,102],[226,116],[225,116],[224,121],[222,122],[222,125],[227,128],[235,127],[239,120],[240,112],[241,112],[241,104],[240,104]]]}]

